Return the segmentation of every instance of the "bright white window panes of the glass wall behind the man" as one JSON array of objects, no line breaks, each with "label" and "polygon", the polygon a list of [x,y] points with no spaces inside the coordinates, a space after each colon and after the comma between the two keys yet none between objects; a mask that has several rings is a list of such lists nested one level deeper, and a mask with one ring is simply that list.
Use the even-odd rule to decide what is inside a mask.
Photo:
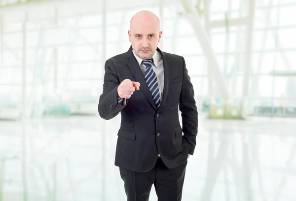
[{"label": "bright white window panes of the glass wall behind the man", "polygon": [[[248,6],[248,2],[243,1],[212,0],[209,19],[226,22],[247,17]],[[107,10],[106,16],[106,46],[103,43],[103,16],[99,11],[73,11],[66,9],[67,6],[56,6],[55,9],[28,12],[27,17],[23,11],[3,14],[1,103],[22,102],[23,66],[26,67],[26,98],[30,101],[46,101],[49,95],[51,100],[55,96],[61,100],[60,93],[79,96],[73,93],[75,90],[84,90],[85,99],[97,100],[102,92],[105,60],[130,47],[127,30],[131,16],[141,9],[160,14],[158,3],[112,11],[111,5],[107,7],[110,10]],[[204,7],[201,1],[200,9]],[[288,76],[289,72],[296,70],[295,10],[294,0],[273,0],[272,4],[256,1],[248,94],[250,114],[254,112],[254,106],[295,105],[296,78],[293,74]],[[159,47],[185,57],[196,99],[202,105],[204,100],[209,99],[208,61],[192,25],[179,14],[183,11],[179,1],[163,4],[163,36]],[[204,20],[206,13],[200,14]],[[25,24],[24,19],[27,19]],[[242,100],[247,25],[210,29],[209,38],[232,100]],[[279,74],[280,71],[286,74]],[[217,85],[212,84],[214,87]],[[31,96],[32,92],[34,96]],[[216,96],[219,93],[214,90],[213,94]],[[63,97],[71,101],[71,96]],[[216,98],[219,99],[219,96]]]}]

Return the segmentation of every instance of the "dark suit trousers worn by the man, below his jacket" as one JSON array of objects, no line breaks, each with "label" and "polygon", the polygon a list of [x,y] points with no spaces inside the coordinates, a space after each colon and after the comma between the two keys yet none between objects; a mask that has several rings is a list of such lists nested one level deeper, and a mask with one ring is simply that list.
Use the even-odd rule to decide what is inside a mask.
[{"label": "dark suit trousers worn by the man, below his jacket", "polygon": [[187,160],[169,169],[158,158],[153,169],[148,172],[134,172],[119,167],[127,201],[148,201],[152,184],[158,201],[181,201],[186,166]]}]

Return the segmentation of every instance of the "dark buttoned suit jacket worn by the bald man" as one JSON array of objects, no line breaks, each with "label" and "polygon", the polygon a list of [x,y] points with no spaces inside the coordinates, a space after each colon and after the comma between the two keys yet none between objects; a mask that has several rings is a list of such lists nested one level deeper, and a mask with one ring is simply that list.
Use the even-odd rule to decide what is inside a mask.
[{"label": "dark buttoned suit jacket worn by the bald man", "polygon": [[[115,166],[136,172],[151,170],[158,153],[168,168],[178,167],[187,160],[188,153],[193,155],[196,144],[197,108],[185,60],[159,48],[157,51],[164,67],[164,90],[158,109],[132,47],[105,64],[99,114],[109,120],[121,113]],[[140,90],[127,99],[125,106],[117,101],[117,87],[124,79],[141,83]],[[183,128],[179,122],[179,109]]]}]

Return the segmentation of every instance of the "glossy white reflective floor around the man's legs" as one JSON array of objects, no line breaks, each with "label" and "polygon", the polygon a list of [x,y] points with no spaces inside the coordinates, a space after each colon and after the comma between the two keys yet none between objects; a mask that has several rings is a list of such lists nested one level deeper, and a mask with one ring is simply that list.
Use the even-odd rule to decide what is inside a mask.
[{"label": "glossy white reflective floor around the man's legs", "polygon": [[[119,122],[1,121],[0,200],[125,201],[114,166]],[[296,119],[200,117],[183,201],[295,201],[295,155]]]}]

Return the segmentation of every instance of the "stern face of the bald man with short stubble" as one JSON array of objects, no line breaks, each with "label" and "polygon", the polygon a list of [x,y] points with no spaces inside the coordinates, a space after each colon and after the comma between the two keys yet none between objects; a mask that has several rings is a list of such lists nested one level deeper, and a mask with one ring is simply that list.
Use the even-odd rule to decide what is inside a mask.
[{"label": "stern face of the bald man with short stubble", "polygon": [[156,51],[162,32],[156,20],[134,20],[128,31],[129,41],[135,54],[141,59],[150,59]]}]

